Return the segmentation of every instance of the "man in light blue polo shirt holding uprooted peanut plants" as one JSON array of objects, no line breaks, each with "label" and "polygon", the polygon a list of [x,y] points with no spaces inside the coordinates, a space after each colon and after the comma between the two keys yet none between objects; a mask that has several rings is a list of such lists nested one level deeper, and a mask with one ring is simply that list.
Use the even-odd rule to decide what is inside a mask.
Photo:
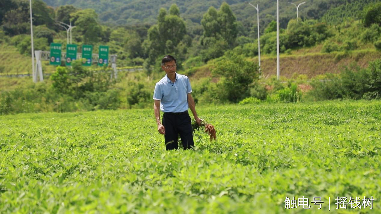
[{"label": "man in light blue polo shirt holding uprooted peanut plants", "polygon": [[[191,95],[191,83],[187,76],[176,73],[176,59],[171,55],[163,57],[162,69],[166,75],[156,83],[154,90],[157,130],[164,135],[166,150],[178,149],[179,134],[183,148],[191,149],[194,143],[188,108],[191,109],[197,124],[200,125],[201,122]],[[159,109],[164,112],[163,123],[160,122]]]}]

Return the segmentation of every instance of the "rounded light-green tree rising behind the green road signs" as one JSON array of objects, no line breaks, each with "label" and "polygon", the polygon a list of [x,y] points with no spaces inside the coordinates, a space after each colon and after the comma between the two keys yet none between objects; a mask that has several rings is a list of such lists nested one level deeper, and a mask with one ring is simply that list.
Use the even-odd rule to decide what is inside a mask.
[{"label": "rounded light-green tree rising behind the green road signs", "polygon": [[101,35],[101,26],[98,24],[98,14],[93,9],[79,10],[72,14],[70,19],[83,35],[83,41],[88,44],[97,43]]}]

